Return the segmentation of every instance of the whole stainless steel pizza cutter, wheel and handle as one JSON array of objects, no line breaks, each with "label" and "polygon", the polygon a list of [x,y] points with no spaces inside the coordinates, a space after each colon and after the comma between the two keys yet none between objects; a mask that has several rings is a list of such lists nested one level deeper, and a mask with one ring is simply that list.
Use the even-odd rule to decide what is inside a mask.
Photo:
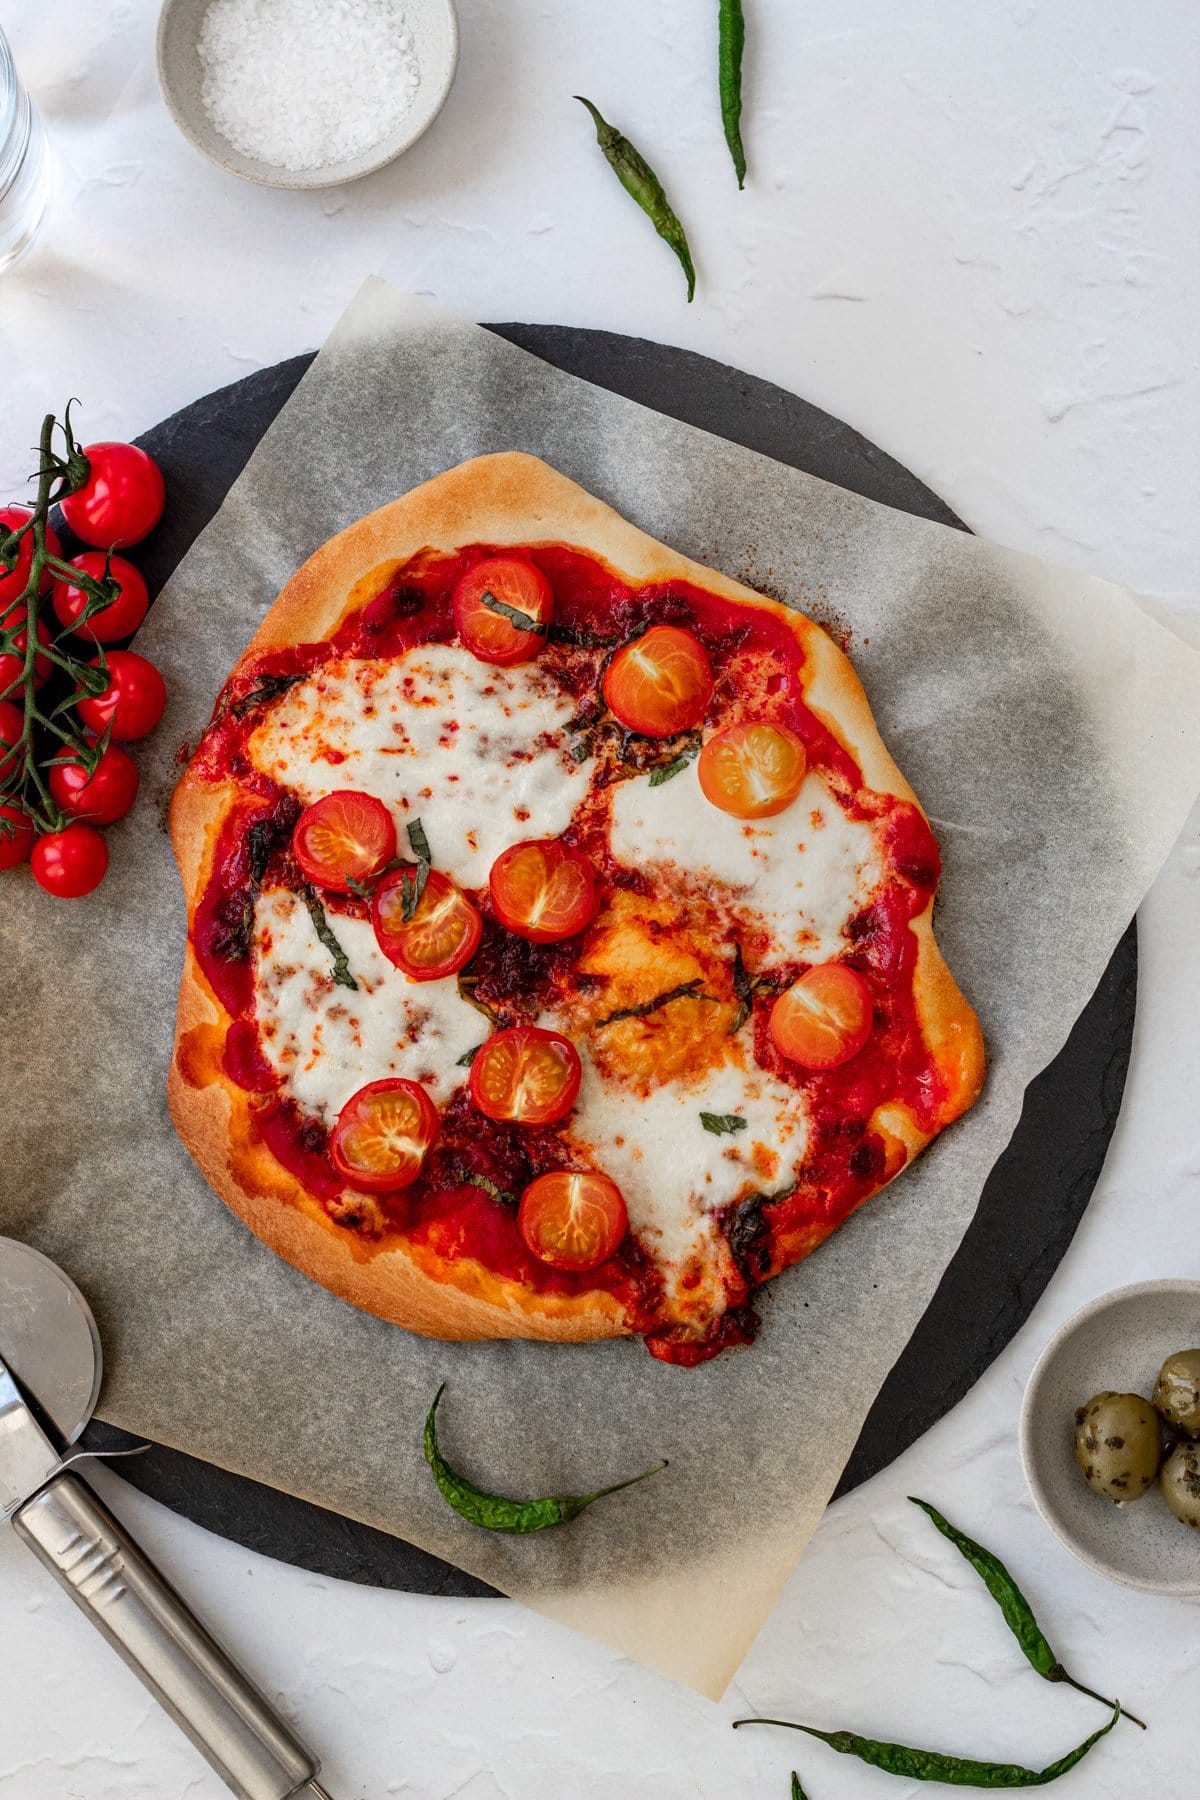
[{"label": "whole stainless steel pizza cutter, wheel and handle", "polygon": [[329,1800],[320,1762],[68,1465],[101,1391],[92,1310],[0,1237],[0,1514],[241,1800]]}]

